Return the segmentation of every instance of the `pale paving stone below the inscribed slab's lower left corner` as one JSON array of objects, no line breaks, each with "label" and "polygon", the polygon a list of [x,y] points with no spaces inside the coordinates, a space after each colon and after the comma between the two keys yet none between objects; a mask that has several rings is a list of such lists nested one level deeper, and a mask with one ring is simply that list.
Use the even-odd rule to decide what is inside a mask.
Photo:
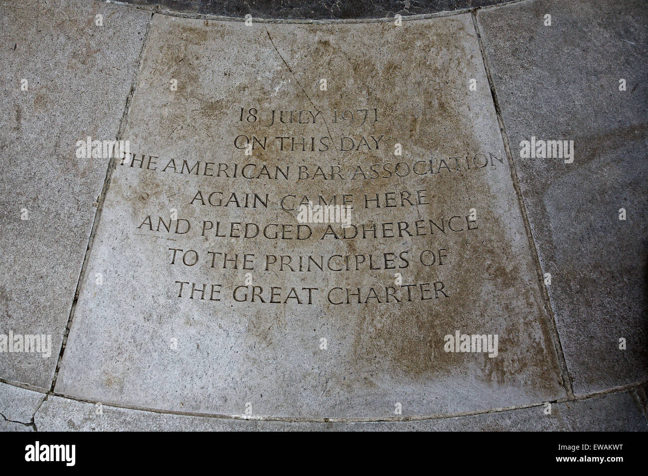
[{"label": "pale paving stone below the inscribed slab's lower left corner", "polygon": [[255,420],[156,413],[50,396],[34,418],[38,431],[256,431]]}]

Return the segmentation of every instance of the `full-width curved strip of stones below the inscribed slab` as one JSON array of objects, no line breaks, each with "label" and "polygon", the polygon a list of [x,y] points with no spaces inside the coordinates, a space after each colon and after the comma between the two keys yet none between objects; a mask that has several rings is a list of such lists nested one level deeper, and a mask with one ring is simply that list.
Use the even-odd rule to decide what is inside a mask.
[{"label": "full-width curved strip of stones below the inscribed slab", "polygon": [[583,400],[402,422],[298,422],[113,407],[0,382],[0,431],[648,431],[645,389]]}]

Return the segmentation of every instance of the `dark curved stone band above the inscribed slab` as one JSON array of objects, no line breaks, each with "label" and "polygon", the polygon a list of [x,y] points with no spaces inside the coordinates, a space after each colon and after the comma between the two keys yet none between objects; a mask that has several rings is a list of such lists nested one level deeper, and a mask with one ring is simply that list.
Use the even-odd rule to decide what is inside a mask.
[{"label": "dark curved stone band above the inscribed slab", "polygon": [[432,14],[510,0],[121,0],[187,14],[266,19],[366,19]]}]

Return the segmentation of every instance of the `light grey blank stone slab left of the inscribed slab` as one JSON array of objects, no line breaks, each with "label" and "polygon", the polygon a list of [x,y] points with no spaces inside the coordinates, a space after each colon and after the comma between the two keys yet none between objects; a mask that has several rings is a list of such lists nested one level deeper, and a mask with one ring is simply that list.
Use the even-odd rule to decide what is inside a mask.
[{"label": "light grey blank stone slab left of the inscribed slab", "polygon": [[0,5],[0,335],[51,335],[47,358],[0,352],[7,380],[51,385],[108,168],[77,159],[75,143],[115,139],[149,17],[87,1]]}]

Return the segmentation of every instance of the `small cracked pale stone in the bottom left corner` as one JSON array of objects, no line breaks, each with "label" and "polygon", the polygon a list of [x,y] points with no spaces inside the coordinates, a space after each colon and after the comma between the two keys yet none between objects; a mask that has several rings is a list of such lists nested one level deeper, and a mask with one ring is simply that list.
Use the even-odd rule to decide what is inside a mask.
[{"label": "small cracked pale stone in the bottom left corner", "polygon": [[34,431],[30,425],[45,394],[0,382],[0,431]]}]

